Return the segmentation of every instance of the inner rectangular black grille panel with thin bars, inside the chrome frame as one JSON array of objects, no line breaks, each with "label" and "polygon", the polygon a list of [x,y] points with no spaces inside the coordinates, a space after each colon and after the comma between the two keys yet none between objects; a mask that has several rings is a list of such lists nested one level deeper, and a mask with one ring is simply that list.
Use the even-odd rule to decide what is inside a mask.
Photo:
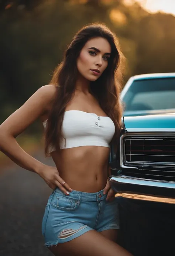
[{"label": "inner rectangular black grille panel with thin bars, inside the chrome frame", "polygon": [[124,137],[124,164],[175,165],[175,137]]}]

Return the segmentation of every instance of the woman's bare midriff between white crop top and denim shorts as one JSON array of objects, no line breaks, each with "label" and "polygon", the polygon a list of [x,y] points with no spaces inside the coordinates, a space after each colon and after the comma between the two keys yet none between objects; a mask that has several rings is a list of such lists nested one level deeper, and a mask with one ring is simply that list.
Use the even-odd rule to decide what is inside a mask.
[{"label": "woman's bare midriff between white crop top and denim shorts", "polygon": [[60,177],[77,191],[94,193],[106,186],[109,147],[81,146],[51,153]]}]

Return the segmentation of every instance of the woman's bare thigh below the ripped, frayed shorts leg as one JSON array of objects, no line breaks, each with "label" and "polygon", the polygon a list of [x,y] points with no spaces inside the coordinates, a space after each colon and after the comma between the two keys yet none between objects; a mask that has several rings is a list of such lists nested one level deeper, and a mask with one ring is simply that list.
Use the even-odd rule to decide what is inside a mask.
[{"label": "woman's bare thigh below the ripped, frayed shorts leg", "polygon": [[91,230],[69,242],[49,247],[55,256],[132,256],[101,233]]}]

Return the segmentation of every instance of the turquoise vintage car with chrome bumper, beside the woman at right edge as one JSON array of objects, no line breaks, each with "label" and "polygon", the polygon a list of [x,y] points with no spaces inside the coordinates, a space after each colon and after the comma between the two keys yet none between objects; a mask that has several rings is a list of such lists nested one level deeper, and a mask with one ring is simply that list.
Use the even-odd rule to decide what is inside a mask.
[{"label": "turquoise vintage car with chrome bumper, beside the woman at right edge", "polygon": [[121,99],[123,127],[109,177],[116,197],[175,204],[175,73],[133,76]]}]

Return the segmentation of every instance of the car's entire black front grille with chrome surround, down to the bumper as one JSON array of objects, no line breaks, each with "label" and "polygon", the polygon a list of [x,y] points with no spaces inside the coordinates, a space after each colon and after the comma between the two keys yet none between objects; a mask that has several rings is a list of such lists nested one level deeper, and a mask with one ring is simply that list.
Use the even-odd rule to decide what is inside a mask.
[{"label": "car's entire black front grille with chrome surround, down to the bumper", "polygon": [[121,137],[123,174],[175,182],[175,136],[127,134]]}]

